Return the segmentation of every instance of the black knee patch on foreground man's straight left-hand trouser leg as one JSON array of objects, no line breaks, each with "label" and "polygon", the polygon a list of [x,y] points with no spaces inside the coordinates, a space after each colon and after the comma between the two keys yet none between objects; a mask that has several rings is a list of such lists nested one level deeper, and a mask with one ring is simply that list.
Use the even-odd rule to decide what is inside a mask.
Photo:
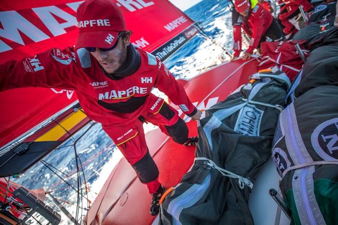
[{"label": "black knee patch on foreground man's straight left-hand trouser leg", "polygon": [[140,159],[137,163],[134,163],[132,166],[142,183],[155,181],[155,179],[158,177],[159,171],[152,156],[149,153],[149,150],[142,159]]}]

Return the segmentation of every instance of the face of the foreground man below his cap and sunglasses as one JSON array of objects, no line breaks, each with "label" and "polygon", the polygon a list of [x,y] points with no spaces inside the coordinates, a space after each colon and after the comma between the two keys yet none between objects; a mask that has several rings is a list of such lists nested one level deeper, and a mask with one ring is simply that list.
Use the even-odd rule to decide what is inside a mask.
[{"label": "face of the foreground man below his cap and sunglasses", "polygon": [[126,47],[130,44],[129,38],[129,36],[119,38],[117,46],[112,50],[102,51],[99,48],[96,48],[95,52],[90,52],[90,54],[94,56],[105,72],[113,74],[126,60]]}]

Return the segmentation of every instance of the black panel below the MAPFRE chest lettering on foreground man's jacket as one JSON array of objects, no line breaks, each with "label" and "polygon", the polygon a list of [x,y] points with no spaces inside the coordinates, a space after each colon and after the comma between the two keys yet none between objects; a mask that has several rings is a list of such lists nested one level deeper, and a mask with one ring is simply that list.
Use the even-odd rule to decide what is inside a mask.
[{"label": "black panel below the MAPFRE chest lettering on foreground man's jacket", "polygon": [[97,103],[109,110],[116,111],[118,113],[128,114],[133,113],[133,111],[141,107],[141,105],[145,102],[145,99],[148,96],[149,95],[143,97],[131,97],[126,102],[108,103],[102,100],[98,100]]}]

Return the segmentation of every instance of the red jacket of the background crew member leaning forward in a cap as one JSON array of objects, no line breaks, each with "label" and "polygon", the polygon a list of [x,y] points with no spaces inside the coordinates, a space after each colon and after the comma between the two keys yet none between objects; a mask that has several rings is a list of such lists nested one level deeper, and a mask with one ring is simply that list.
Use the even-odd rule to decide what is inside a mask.
[{"label": "red jacket of the background crew member leaning forward in a cap", "polygon": [[239,56],[242,50],[242,28],[244,32],[251,37],[247,53],[252,54],[254,49],[269,29],[272,22],[272,15],[264,9],[261,4],[257,4],[250,10],[248,17],[244,18],[236,10],[233,10],[233,27],[234,27],[234,56]]}]

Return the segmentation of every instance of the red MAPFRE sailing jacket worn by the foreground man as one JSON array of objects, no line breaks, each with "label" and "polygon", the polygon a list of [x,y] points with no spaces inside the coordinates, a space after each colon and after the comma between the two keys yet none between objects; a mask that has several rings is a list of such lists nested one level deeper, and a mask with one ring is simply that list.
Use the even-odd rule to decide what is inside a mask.
[{"label": "red MAPFRE sailing jacket worn by the foreground man", "polygon": [[143,50],[129,48],[137,53],[140,63],[128,76],[109,77],[85,49],[52,49],[0,65],[0,91],[18,87],[74,90],[89,118],[104,125],[123,125],[148,110],[152,88],[157,87],[186,115],[193,116],[195,106],[166,66]]}]

